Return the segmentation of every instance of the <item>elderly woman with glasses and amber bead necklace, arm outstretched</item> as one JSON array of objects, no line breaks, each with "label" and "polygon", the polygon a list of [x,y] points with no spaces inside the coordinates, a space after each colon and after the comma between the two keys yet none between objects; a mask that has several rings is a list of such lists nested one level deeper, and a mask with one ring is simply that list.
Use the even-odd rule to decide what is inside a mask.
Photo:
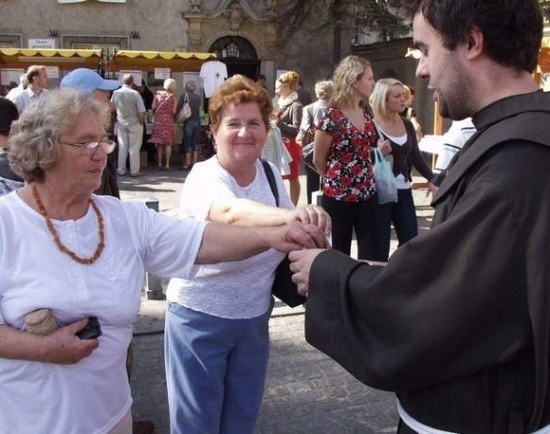
[{"label": "elderly woman with glasses and amber bead necklace, arm outstretched", "polygon": [[131,433],[125,359],[145,271],[189,278],[195,264],[324,244],[299,222],[176,220],[93,194],[115,146],[106,123],[73,90],[14,123],[10,163],[26,185],[0,198],[0,432]]}]

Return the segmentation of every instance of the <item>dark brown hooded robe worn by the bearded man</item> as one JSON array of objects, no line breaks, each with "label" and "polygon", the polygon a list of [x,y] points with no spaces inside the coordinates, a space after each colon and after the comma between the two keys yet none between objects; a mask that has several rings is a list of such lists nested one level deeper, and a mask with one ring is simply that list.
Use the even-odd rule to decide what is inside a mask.
[{"label": "dark brown hooded robe worn by the bearded man", "polygon": [[426,425],[529,432],[550,424],[550,94],[474,124],[428,233],[385,269],[314,261],[306,339]]}]

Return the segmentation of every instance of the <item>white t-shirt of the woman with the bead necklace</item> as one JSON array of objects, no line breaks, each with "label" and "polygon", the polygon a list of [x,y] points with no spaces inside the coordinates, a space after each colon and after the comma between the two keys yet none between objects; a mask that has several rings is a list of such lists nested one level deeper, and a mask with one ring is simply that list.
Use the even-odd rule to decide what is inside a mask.
[{"label": "white t-shirt of the woman with the bead necklace", "polygon": [[[103,335],[73,365],[0,358],[0,432],[106,433],[132,404],[126,350],[145,270],[190,277],[205,223],[177,220],[139,202],[94,196],[105,222],[105,250],[80,265],[58,250],[44,218],[17,192],[0,198],[0,324],[23,330],[23,316],[52,310],[60,324],[95,315]],[[80,256],[98,243],[95,212],[53,221]]]}]

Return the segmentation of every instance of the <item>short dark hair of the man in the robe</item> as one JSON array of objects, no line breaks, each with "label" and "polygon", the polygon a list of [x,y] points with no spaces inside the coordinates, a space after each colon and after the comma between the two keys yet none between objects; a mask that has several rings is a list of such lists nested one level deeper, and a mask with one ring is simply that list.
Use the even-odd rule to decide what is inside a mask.
[{"label": "short dark hair of the man in the robe", "polygon": [[532,72],[542,39],[542,15],[537,0],[402,0],[412,19],[422,13],[454,50],[467,41],[472,27],[485,38],[485,54],[504,66]]}]

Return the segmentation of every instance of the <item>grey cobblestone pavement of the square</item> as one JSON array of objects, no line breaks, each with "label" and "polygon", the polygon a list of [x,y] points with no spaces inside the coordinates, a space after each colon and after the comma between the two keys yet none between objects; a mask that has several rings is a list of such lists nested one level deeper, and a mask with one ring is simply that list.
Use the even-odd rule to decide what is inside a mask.
[{"label": "grey cobblestone pavement of the square", "polygon": [[[123,200],[158,200],[160,212],[176,216],[187,172],[145,169],[140,178],[121,177]],[[302,186],[305,179],[302,177]],[[414,190],[420,231],[433,214],[425,190]],[[305,194],[301,201],[305,203]],[[395,241],[392,241],[392,249]],[[352,252],[352,255],[354,253]],[[144,294],[134,330],[132,393],[135,420],[154,422],[157,434],[168,429],[163,360],[165,301]],[[276,302],[270,320],[271,352],[257,434],[391,433],[397,413],[393,393],[357,381],[336,362],[305,342],[302,307]]]}]

